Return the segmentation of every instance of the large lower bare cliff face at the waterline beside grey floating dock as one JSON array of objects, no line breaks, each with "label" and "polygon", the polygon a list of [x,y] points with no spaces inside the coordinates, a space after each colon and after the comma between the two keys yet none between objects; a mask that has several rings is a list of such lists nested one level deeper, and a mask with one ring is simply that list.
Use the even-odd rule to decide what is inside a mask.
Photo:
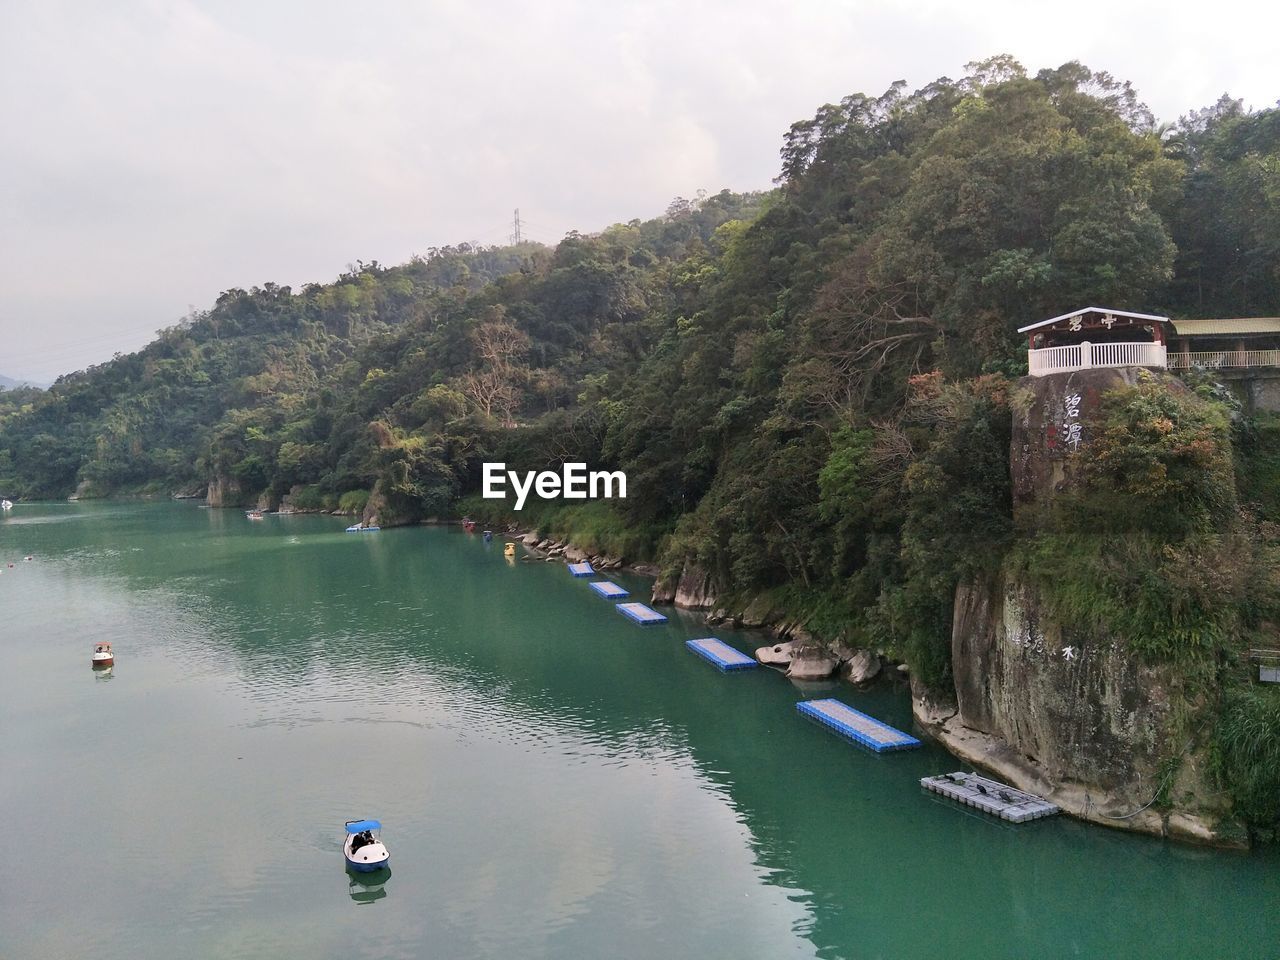
[{"label": "large lower bare cliff face at the waterline beside grey floating dock", "polygon": [[[1208,783],[1203,751],[1192,744],[1184,754],[1171,668],[1055,623],[1034,591],[1001,580],[957,590],[951,662],[954,713],[918,695],[916,717],[941,724],[940,737],[960,756],[1098,823],[1216,838],[1225,805]],[[1181,764],[1165,785],[1172,756]],[[1167,814],[1130,815],[1162,785]]]}]

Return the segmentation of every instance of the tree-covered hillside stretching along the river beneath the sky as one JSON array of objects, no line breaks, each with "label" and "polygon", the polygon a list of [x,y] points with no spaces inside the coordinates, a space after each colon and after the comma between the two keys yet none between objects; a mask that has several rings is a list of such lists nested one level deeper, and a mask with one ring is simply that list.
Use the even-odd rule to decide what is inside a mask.
[{"label": "tree-covered hillside stretching along the river beneath the sky", "polygon": [[[1015,330],[1089,303],[1280,314],[1280,110],[1161,125],[1107,74],[1007,58],[852,95],[792,125],[768,193],[228,291],[138,353],[0,393],[0,493],[333,508],[376,484],[394,522],[448,513],[486,458],[585,460],[627,499],[545,522],[936,677],[956,584],[1015,536]],[[1274,424],[1221,416],[1245,509],[1280,520]]]}]

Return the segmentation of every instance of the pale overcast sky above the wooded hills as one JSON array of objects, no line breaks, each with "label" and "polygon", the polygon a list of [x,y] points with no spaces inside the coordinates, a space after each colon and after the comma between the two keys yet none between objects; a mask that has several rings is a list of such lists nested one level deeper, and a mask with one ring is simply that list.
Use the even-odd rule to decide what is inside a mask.
[{"label": "pale overcast sky above the wooded hills", "polygon": [[826,102],[1012,54],[1157,119],[1280,99],[1272,4],[0,0],[0,375],[50,381],[232,287],[767,189]]}]

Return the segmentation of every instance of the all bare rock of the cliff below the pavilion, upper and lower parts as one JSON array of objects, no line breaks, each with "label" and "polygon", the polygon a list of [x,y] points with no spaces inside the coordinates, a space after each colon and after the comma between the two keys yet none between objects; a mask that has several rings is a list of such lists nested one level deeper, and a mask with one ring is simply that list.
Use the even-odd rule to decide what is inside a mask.
[{"label": "all bare rock of the cliff below the pavilion, upper and lower parts", "polygon": [[[1010,451],[1015,509],[1071,484],[1071,457],[1089,442],[1101,396],[1138,375],[1023,379]],[[954,690],[913,682],[913,699],[916,719],[963,759],[1098,823],[1222,842],[1225,804],[1171,705],[1184,696],[1175,669],[1138,660],[1123,637],[1055,622],[1036,590],[1007,575],[956,590],[951,664]],[[1162,787],[1169,806],[1143,809]]]}]

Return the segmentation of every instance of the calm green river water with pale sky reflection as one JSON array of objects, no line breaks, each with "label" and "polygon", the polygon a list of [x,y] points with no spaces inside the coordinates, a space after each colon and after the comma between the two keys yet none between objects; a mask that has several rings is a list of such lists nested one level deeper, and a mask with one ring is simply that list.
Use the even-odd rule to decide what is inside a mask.
[{"label": "calm green river water with pale sky reflection", "polygon": [[[0,956],[1280,954],[1274,852],[980,819],[920,792],[943,751],[795,713],[835,690],[909,727],[901,689],[723,676],[695,618],[639,627],[561,564],[343,526],[0,520]],[[380,886],[343,869],[362,817]]]}]

